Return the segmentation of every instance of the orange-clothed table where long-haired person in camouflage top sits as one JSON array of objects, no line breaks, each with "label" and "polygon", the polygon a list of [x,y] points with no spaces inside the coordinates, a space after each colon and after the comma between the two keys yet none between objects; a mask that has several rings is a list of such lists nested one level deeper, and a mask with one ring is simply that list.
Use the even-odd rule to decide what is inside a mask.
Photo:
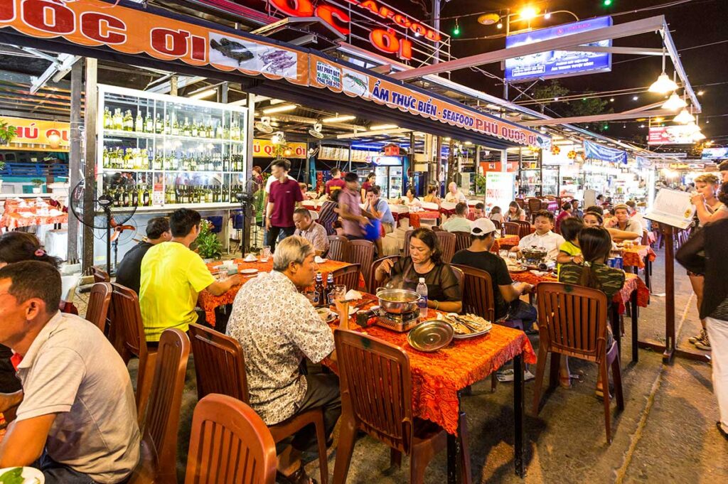
[{"label": "orange-clothed table where long-haired person in camouflage top sits", "polygon": [[[518,282],[528,282],[532,285],[538,285],[539,282],[558,282],[555,274],[536,275],[531,271],[511,272],[511,279]],[[630,316],[632,318],[632,361],[638,360],[638,307],[646,308],[649,304],[649,289],[644,281],[636,274],[625,272],[625,285],[622,290],[612,298],[612,314],[610,320],[612,322],[612,331],[617,345],[622,349],[622,330],[620,328],[620,314],[625,312],[627,305],[630,304]],[[620,353],[621,354],[621,353]]]}]

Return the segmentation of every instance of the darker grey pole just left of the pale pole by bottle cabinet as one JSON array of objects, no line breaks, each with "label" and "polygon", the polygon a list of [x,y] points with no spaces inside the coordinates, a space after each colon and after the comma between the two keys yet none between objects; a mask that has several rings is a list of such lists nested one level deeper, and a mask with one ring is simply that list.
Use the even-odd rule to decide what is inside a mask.
[{"label": "darker grey pole just left of the pale pole by bottle cabinet", "polygon": [[[68,153],[68,185],[70,190],[81,180],[81,96],[83,90],[84,66],[82,60],[71,67],[71,147]],[[68,193],[71,196],[71,193]],[[68,252],[66,261],[78,263],[79,261],[79,220],[74,216],[68,217]]]}]

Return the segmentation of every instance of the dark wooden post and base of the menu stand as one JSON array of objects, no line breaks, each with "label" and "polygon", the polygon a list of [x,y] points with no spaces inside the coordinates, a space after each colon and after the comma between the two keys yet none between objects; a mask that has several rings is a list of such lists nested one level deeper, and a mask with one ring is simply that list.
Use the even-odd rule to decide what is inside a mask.
[{"label": "dark wooden post and base of the menu stand", "polygon": [[639,341],[640,348],[662,352],[662,363],[668,365],[678,356],[687,360],[708,362],[705,354],[685,352],[676,349],[675,335],[675,234],[676,228],[666,223],[658,223],[665,237],[665,344],[653,341]]}]

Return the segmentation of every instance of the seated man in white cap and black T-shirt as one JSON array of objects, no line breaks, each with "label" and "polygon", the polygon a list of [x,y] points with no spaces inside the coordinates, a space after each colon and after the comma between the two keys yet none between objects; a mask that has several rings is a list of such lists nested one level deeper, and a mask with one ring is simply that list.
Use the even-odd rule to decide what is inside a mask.
[{"label": "seated man in white cap and black T-shirt", "polygon": [[530,293],[534,286],[527,282],[514,283],[505,261],[491,253],[496,233],[496,226],[489,218],[478,218],[473,221],[470,229],[470,247],[457,252],[453,256],[452,263],[470,266],[490,274],[493,285],[498,286],[498,290],[493,291],[496,321],[523,320],[524,327],[529,328],[536,320],[536,308],[526,301],[521,301],[521,295]]}]

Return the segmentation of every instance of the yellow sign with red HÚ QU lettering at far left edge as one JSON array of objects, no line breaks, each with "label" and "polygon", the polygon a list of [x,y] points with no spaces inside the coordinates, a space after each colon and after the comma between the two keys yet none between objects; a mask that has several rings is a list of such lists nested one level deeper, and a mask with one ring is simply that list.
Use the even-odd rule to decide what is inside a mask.
[{"label": "yellow sign with red H\u00da QU lettering at far left edge", "polygon": [[1,121],[15,127],[15,137],[0,148],[29,151],[68,151],[71,126],[66,122],[3,116]]}]

